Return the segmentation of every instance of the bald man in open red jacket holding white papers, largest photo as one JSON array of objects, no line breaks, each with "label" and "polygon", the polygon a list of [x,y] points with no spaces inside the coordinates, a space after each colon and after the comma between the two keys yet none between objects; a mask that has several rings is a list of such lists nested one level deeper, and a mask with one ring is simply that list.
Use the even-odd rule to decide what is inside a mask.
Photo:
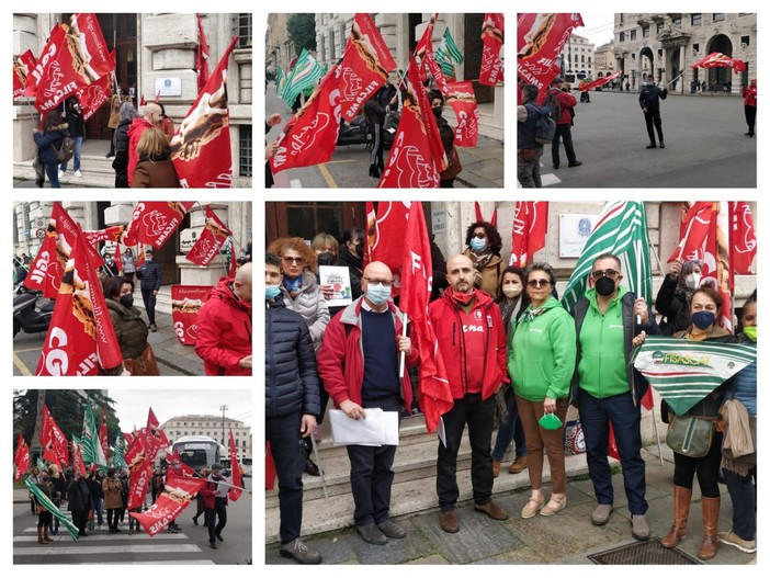
[{"label": "bald man in open red jacket holding white papers, largest photo", "polygon": [[[318,351],[318,374],[324,387],[350,419],[366,419],[366,408],[399,411],[411,407],[409,375],[398,374],[398,358],[408,366],[419,362],[417,349],[401,337],[403,314],[390,299],[393,273],[384,263],[366,265],[361,277],[363,295],[339,311],[324,333]],[[387,544],[406,536],[390,520],[390,487],[395,445],[348,445],[353,514],[361,537]],[[490,466],[491,467],[491,466]]]}]

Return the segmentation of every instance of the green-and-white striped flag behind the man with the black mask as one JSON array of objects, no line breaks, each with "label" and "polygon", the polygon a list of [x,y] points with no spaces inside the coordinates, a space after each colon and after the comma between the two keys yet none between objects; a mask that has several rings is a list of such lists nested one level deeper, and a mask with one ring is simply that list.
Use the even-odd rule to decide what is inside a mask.
[{"label": "green-and-white striped flag behind the man with the black mask", "polygon": [[593,261],[603,253],[612,253],[621,260],[623,279],[629,290],[647,302],[652,299],[653,272],[644,203],[614,202],[604,206],[569,276],[562,295],[562,305],[567,310],[586,293]]}]

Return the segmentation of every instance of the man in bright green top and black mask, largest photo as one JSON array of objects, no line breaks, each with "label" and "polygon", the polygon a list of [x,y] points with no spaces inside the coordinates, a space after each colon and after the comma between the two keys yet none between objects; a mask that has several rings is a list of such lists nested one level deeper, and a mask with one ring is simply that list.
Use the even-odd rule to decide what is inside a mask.
[{"label": "man in bright green top and black mask, largest photo", "polygon": [[570,401],[580,411],[588,473],[598,501],[591,522],[604,525],[612,512],[614,495],[607,458],[612,426],[623,466],[631,533],[636,540],[648,540],[639,431],[639,400],[647,383],[629,361],[632,348],[641,343],[638,336],[659,335],[659,329],[646,302],[621,286],[622,279],[620,259],[611,253],[599,256],[589,277],[591,288],[575,304],[578,356]]}]

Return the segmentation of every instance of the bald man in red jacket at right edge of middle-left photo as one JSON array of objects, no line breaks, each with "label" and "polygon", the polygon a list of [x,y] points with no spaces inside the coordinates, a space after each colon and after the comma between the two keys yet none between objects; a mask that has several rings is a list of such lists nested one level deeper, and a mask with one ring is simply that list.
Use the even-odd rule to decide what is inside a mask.
[{"label": "bald man in red jacket at right edge of middle-left photo", "polygon": [[251,375],[251,263],[222,277],[197,315],[195,353],[206,375]]}]

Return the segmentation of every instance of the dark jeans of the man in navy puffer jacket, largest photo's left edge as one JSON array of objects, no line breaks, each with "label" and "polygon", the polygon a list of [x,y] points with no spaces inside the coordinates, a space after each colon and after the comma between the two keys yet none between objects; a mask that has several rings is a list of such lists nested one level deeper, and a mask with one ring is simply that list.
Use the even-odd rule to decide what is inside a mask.
[{"label": "dark jeans of the man in navy puffer jacket, largest photo's left edge", "polygon": [[301,411],[264,420],[264,439],[275,463],[281,511],[281,544],[299,537],[302,529],[302,472],[305,467],[305,445],[299,434]]}]

